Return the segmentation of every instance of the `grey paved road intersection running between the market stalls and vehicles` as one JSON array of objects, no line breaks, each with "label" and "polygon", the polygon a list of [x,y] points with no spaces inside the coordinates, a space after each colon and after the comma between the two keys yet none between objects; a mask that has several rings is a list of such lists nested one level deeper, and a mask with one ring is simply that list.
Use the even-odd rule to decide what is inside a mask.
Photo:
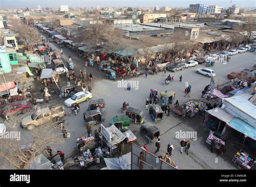
[{"label": "grey paved road intersection running between the market stalls and vehicles", "polygon": [[[58,48],[56,44],[50,44],[50,46],[53,49]],[[72,56],[76,69],[79,70],[83,68],[84,61],[75,56],[76,53],[70,51],[68,48],[63,48],[63,51],[64,59],[67,60],[70,55]],[[245,67],[252,67],[255,63],[255,55],[255,53],[246,52],[232,56],[231,60],[227,62],[227,64],[215,63],[215,66],[212,67],[212,69],[217,72],[217,76],[214,77],[215,82],[217,83],[219,81],[220,84],[227,82],[227,73],[234,70],[242,70]],[[205,65],[199,65],[197,68],[200,67],[205,67]],[[131,91],[127,91],[126,88],[119,88],[117,81],[111,81],[104,78],[104,74],[99,72],[96,67],[89,67],[89,71],[93,72],[93,75],[97,75],[97,78],[93,81],[93,98],[104,98],[106,102],[106,119],[103,122],[105,126],[108,126],[109,119],[111,117],[123,115],[120,108],[124,101],[129,103],[132,107],[142,109],[145,112],[146,120],[151,121],[149,112],[145,110],[145,100],[149,97],[151,88],[157,89],[158,92],[173,90],[176,92],[176,99],[178,99],[180,103],[183,103],[189,99],[200,98],[201,90],[203,90],[207,84],[210,84],[211,80],[211,78],[196,74],[196,68],[190,68],[184,69],[183,71],[177,71],[177,73],[170,73],[172,76],[176,77],[176,80],[171,82],[169,85],[162,84],[165,79],[165,77],[162,76],[163,73],[159,73],[158,75],[149,75],[147,78],[145,78],[144,75],[140,75],[136,78],[130,78],[129,80],[136,81],[139,87],[138,90],[132,88]],[[167,72],[167,74],[169,74],[169,72]],[[178,82],[178,77],[180,75],[183,76],[183,81],[181,83]],[[192,85],[190,98],[183,97],[186,82]],[[76,139],[79,136],[86,134],[83,112],[87,109],[87,103],[82,103],[80,106],[81,110],[76,117],[65,117],[70,124],[68,132],[71,133],[71,136],[66,140],[65,146],[59,147],[59,149],[64,150],[66,156],[77,153]],[[69,109],[66,109],[66,111],[69,111]],[[157,153],[157,156],[160,153],[166,152],[167,144],[171,142],[174,146],[172,159],[178,164],[180,169],[235,169],[233,164],[226,162],[223,157],[210,152],[205,143],[205,139],[203,139],[203,132],[199,131],[203,129],[200,121],[197,121],[196,119],[180,119],[172,113],[171,117],[166,117],[164,121],[157,123],[156,126],[158,126],[161,131],[161,148],[160,152]],[[93,126],[93,131],[98,127],[99,125]],[[131,130],[138,137],[139,145],[144,145],[147,141],[139,135],[138,128],[138,125],[131,125]],[[179,142],[181,139],[175,138],[175,134],[180,130],[198,132],[197,140],[193,141],[191,139],[190,155],[186,155],[185,153],[180,154],[179,152]],[[149,147],[151,152],[154,152],[154,143],[147,144],[147,147]]]}]

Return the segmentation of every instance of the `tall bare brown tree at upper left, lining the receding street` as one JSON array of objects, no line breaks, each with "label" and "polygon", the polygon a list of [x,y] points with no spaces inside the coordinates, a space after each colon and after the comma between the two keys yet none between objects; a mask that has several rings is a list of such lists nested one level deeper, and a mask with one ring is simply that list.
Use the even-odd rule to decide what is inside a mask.
[{"label": "tall bare brown tree at upper left, lining the receding street", "polygon": [[33,51],[33,45],[41,39],[36,28],[33,28],[22,21],[12,21],[11,30],[18,34],[19,39]]}]

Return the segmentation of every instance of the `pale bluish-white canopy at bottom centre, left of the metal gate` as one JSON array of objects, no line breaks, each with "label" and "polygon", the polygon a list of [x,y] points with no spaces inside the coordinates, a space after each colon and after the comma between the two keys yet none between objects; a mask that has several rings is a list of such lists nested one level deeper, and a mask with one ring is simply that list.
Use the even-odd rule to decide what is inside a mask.
[{"label": "pale bluish-white canopy at bottom centre, left of the metal gate", "polygon": [[119,169],[119,170],[128,170],[131,169],[131,152],[125,155],[122,155],[119,158],[104,158],[107,169]]}]

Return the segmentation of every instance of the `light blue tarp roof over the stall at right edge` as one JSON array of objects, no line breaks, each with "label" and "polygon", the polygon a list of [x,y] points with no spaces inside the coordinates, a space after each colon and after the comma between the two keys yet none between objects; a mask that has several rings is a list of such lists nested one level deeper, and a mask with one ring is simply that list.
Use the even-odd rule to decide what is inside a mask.
[{"label": "light blue tarp roof over the stall at right edge", "polygon": [[242,134],[246,134],[253,140],[256,140],[256,128],[253,128],[251,125],[245,123],[244,121],[235,118],[232,121],[228,122],[227,125],[234,128],[235,130]]}]

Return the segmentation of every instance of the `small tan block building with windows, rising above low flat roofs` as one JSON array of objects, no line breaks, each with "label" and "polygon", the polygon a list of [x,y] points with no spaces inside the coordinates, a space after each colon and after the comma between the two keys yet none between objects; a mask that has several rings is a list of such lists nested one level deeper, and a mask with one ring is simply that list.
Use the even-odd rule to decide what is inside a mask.
[{"label": "small tan block building with windows, rising above low flat roofs", "polygon": [[200,27],[174,27],[175,35],[182,35],[187,40],[196,40],[199,36]]}]

